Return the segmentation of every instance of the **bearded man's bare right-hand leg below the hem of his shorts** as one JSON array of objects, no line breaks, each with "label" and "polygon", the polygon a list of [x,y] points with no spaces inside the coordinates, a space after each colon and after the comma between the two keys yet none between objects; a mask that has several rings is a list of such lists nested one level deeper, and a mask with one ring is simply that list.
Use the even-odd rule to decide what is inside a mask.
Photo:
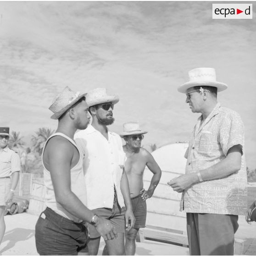
[{"label": "bearded man's bare right-hand leg below the hem of his shorts", "polygon": [[118,233],[117,238],[112,240],[107,240],[106,249],[103,251],[104,253],[108,253],[108,255],[125,255],[124,252],[124,233]]}]

